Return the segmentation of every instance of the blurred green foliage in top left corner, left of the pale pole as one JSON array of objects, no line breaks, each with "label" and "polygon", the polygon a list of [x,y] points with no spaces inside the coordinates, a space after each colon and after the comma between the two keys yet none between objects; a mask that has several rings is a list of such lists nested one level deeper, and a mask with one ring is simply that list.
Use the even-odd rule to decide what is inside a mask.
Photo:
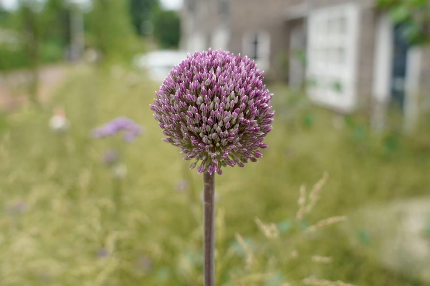
[{"label": "blurred green foliage in top left corner, left of the pale pole", "polygon": [[63,58],[69,43],[68,7],[64,0],[19,1],[15,12],[1,13],[0,33],[10,43],[0,42],[0,70],[35,67]]}]

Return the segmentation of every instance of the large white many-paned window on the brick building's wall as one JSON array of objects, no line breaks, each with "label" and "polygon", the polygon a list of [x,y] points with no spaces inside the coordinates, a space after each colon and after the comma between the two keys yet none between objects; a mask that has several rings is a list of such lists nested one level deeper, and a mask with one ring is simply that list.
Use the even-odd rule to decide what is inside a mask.
[{"label": "large white many-paned window on the brick building's wall", "polygon": [[308,18],[308,94],[341,112],[356,108],[359,12],[349,2],[314,9]]}]

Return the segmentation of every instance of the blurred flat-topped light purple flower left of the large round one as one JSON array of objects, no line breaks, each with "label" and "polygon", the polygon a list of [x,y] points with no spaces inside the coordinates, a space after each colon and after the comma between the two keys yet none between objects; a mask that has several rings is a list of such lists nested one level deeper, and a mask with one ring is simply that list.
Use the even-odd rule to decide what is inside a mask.
[{"label": "blurred flat-topped light purple flower left of the large round one", "polygon": [[117,117],[94,129],[92,135],[95,138],[101,138],[121,133],[124,141],[132,142],[136,136],[142,133],[142,129],[140,125],[127,117]]}]

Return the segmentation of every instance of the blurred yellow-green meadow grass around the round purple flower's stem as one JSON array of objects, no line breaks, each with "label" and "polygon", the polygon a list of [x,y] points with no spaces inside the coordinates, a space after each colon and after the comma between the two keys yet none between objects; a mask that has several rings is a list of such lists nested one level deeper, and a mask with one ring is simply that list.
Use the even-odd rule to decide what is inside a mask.
[{"label": "blurred yellow-green meadow grass around the round purple flower's stem", "polygon": [[[0,115],[1,285],[202,284],[202,178],[188,170],[178,148],[161,141],[148,106],[158,88],[141,71],[78,65],[50,107]],[[349,222],[312,235],[303,229],[365,204],[428,194],[428,127],[416,137],[395,125],[373,134],[360,114],[311,106],[284,85],[269,89],[276,114],[264,157],[215,177],[217,284],[303,285],[315,275],[361,286],[425,285],[351,248],[341,227]],[[55,106],[71,122],[65,134],[49,130]],[[111,172],[101,162],[109,140],[90,136],[117,116],[145,128],[124,146],[120,212]],[[297,222],[299,187],[310,189],[324,171],[330,178],[322,198]],[[255,217],[276,224],[279,239],[265,237]],[[372,237],[359,221],[353,225],[354,239],[370,247]],[[251,266],[237,234],[254,256]],[[312,256],[329,256],[331,263]]]}]

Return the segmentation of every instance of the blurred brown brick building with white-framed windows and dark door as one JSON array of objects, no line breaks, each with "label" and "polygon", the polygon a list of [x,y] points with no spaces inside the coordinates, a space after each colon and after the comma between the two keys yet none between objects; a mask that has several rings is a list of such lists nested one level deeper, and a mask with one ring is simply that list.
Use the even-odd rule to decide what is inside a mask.
[{"label": "blurred brown brick building with white-framed windows and dark door", "polygon": [[343,113],[391,101],[413,117],[416,94],[430,90],[430,53],[409,47],[374,6],[373,0],[184,0],[181,46],[248,55],[269,78],[306,86],[312,100]]}]

